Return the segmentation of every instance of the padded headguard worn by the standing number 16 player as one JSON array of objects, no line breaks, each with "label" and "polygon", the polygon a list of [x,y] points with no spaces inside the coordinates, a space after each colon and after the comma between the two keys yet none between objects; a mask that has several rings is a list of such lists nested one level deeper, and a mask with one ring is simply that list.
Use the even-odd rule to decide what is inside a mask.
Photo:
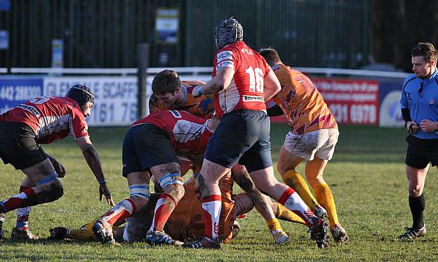
[{"label": "padded headguard worn by the standing number 16 player", "polygon": [[228,43],[242,41],[244,39],[244,27],[232,17],[225,18],[216,25],[215,37],[218,48],[223,48]]}]

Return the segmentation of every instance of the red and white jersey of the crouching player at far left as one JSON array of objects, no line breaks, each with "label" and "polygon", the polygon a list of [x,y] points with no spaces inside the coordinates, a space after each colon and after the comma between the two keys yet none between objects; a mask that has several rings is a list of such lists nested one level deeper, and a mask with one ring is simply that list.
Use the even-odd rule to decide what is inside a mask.
[{"label": "red and white jersey of the crouching player at far left", "polygon": [[67,135],[76,140],[88,137],[84,113],[67,97],[36,97],[4,113],[0,121],[29,125],[39,144],[50,144]]}]

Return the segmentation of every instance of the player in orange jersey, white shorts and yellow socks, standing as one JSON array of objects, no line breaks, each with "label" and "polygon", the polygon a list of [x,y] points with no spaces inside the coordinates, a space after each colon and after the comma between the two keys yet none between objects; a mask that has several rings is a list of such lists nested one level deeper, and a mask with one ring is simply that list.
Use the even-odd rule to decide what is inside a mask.
[{"label": "player in orange jersey, white shorts and yellow socks, standing", "polygon": [[[281,91],[274,96],[270,116],[286,114],[291,131],[281,148],[277,169],[284,182],[295,189],[314,213],[324,216],[327,210],[331,233],[336,242],[348,239],[340,226],[330,188],[323,178],[324,167],[331,160],[338,142],[338,125],[333,114],[312,81],[300,71],[283,64],[276,50],[266,48],[260,55],[279,78]],[[298,172],[296,166],[307,160],[305,175],[317,200]],[[322,205],[322,208],[320,205]]]}]

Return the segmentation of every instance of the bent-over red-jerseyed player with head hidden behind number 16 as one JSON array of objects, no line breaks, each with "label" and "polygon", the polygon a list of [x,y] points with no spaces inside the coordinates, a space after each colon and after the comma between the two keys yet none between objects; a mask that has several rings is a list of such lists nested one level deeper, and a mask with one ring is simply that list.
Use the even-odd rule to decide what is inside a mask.
[{"label": "bent-over red-jerseyed player with head hidden behind number 16", "polygon": [[[128,179],[130,198],[122,200],[98,219],[93,232],[102,244],[114,243],[112,226],[145,207],[150,197],[152,175],[164,193],[154,210],[146,241],[150,244],[182,244],[164,233],[173,209],[183,198],[184,187],[176,154],[204,152],[218,120],[205,120],[185,111],[161,111],[136,121],[123,144],[123,176]],[[175,152],[176,151],[176,152]]]}]

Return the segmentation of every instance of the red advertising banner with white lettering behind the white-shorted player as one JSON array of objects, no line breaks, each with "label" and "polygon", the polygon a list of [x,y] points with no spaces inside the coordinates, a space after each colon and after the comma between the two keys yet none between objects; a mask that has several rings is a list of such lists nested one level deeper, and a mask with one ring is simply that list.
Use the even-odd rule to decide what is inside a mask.
[{"label": "red advertising banner with white lettering behind the white-shorted player", "polygon": [[[378,81],[313,78],[312,82],[338,123],[378,125]],[[271,118],[271,122],[287,123],[287,120],[277,116]]]}]

